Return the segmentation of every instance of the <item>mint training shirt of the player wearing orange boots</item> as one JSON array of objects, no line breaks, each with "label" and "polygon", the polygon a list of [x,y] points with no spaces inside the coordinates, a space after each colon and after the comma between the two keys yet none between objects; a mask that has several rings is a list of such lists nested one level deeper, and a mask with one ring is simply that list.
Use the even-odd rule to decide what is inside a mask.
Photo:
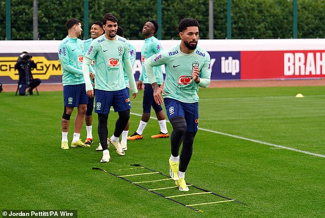
[{"label": "mint training shirt of the player wearing orange boots", "polygon": [[[145,69],[145,60],[154,54],[157,54],[162,51],[162,47],[158,39],[154,36],[145,39],[145,44],[142,46],[141,49],[141,63],[142,63],[142,70],[139,77],[139,81],[143,81],[144,83],[149,83],[147,72]],[[164,77],[162,76],[161,66],[157,66],[153,68],[156,81],[159,85],[164,82]]]}]

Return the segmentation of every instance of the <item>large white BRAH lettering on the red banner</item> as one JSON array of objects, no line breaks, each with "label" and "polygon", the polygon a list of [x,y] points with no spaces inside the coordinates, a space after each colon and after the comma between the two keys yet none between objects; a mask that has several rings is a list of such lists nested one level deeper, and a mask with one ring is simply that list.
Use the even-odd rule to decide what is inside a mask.
[{"label": "large white BRAH lettering on the red banner", "polygon": [[325,52],[285,53],[284,75],[325,75]]}]

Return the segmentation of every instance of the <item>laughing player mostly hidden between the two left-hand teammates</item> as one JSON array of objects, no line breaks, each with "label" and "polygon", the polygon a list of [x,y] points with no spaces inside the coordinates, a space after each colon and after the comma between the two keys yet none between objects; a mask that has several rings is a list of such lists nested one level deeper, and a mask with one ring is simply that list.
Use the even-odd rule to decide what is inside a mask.
[{"label": "laughing player mostly hidden between the two left-hand teammates", "polygon": [[[90,28],[90,34],[91,34],[91,38],[87,39],[84,41],[84,50],[87,51],[89,48],[90,43],[98,38],[99,36],[104,34],[104,29],[103,29],[103,22],[97,20],[95,22],[93,22],[93,24],[91,25]],[[91,62],[91,66],[92,68],[94,68],[95,62],[92,61]],[[91,78],[91,84],[94,86],[94,77],[95,74],[94,72],[90,72],[89,76]],[[95,92],[94,92],[94,96],[95,96]],[[94,108],[94,98],[89,98],[88,97],[88,104],[87,104],[87,111],[85,114],[85,123],[86,123],[86,130],[87,130],[87,139],[85,141],[85,144],[92,144],[93,143],[93,136],[92,136],[92,121],[93,121],[93,116],[92,116],[92,111]]]}]

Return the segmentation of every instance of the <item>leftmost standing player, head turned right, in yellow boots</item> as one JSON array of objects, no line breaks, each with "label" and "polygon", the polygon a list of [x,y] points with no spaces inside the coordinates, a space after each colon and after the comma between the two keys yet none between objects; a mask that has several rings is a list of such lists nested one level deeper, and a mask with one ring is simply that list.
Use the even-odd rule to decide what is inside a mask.
[{"label": "leftmost standing player, head turned right, in yellow boots", "polygon": [[80,140],[80,131],[83,126],[88,103],[82,71],[85,54],[84,43],[82,40],[78,39],[83,31],[82,23],[78,19],[71,18],[67,20],[66,27],[68,29],[68,36],[60,42],[58,47],[58,58],[62,65],[64,95],[64,112],[61,122],[61,149],[69,149],[68,129],[70,125],[70,116],[74,107],[77,107],[77,115],[74,123],[71,147],[90,147]]}]

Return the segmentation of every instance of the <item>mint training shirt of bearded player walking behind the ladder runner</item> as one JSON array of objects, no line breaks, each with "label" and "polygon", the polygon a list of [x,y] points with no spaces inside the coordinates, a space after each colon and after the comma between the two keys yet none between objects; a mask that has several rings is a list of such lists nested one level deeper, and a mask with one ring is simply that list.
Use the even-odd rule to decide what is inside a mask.
[{"label": "mint training shirt of bearded player walking behind the ladder runner", "polygon": [[117,91],[126,88],[123,60],[130,58],[127,39],[108,40],[101,35],[90,43],[85,57],[95,59],[95,89]]}]

